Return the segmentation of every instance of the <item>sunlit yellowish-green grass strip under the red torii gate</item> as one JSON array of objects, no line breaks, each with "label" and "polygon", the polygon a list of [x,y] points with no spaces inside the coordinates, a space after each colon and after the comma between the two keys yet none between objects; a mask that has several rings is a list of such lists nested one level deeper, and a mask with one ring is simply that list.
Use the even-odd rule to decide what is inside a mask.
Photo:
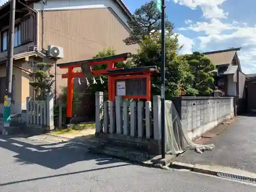
[{"label": "sunlit yellowish-green grass strip under the red torii gate", "polygon": [[83,130],[87,129],[95,129],[95,123],[82,123],[82,124],[74,124],[74,127],[71,129],[59,129],[58,131],[52,132],[54,135],[62,135],[62,134],[71,134],[71,133],[78,133]]}]

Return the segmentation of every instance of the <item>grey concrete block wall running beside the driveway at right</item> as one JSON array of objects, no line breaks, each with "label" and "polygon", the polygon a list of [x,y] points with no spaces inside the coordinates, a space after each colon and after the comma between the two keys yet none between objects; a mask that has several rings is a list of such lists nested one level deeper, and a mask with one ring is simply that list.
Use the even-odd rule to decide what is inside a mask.
[{"label": "grey concrete block wall running beside the driveway at right", "polygon": [[233,97],[177,97],[172,100],[182,120],[182,129],[193,140],[234,115]]}]

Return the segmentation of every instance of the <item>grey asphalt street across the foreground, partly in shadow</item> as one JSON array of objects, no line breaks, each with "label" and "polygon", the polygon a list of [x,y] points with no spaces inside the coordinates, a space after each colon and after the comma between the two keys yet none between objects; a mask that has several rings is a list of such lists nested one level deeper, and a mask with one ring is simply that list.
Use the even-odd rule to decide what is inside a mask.
[{"label": "grey asphalt street across the foreground, partly in shadow", "polygon": [[180,170],[132,165],[84,148],[0,136],[0,191],[255,191],[255,186]]}]

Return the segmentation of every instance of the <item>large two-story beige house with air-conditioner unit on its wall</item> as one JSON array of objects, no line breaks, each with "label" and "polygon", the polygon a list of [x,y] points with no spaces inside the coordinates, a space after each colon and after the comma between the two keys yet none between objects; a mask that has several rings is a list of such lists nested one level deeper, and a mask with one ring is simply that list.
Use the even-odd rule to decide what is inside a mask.
[{"label": "large two-story beige house with air-conditioner unit on its wall", "polygon": [[[116,53],[135,52],[137,45],[126,46],[123,39],[131,29],[127,21],[130,11],[121,0],[16,0],[13,113],[26,109],[26,97],[33,95],[29,72],[33,63],[51,63],[55,75],[54,92],[67,80],[61,78],[66,70],[56,63],[90,59],[99,51],[113,47]],[[11,1],[0,7],[0,113],[3,113],[6,76],[8,28]]]}]

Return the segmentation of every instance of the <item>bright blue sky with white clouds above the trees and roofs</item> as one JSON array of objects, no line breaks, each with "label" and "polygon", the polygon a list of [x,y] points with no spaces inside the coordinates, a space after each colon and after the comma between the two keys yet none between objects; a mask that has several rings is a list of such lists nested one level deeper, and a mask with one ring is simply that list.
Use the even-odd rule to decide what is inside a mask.
[{"label": "bright blue sky with white clouds above the trees and roofs", "polygon": [[[134,12],[150,0],[123,0]],[[242,47],[242,71],[256,73],[256,1],[252,0],[169,0],[168,20],[180,34],[183,53]]]}]

